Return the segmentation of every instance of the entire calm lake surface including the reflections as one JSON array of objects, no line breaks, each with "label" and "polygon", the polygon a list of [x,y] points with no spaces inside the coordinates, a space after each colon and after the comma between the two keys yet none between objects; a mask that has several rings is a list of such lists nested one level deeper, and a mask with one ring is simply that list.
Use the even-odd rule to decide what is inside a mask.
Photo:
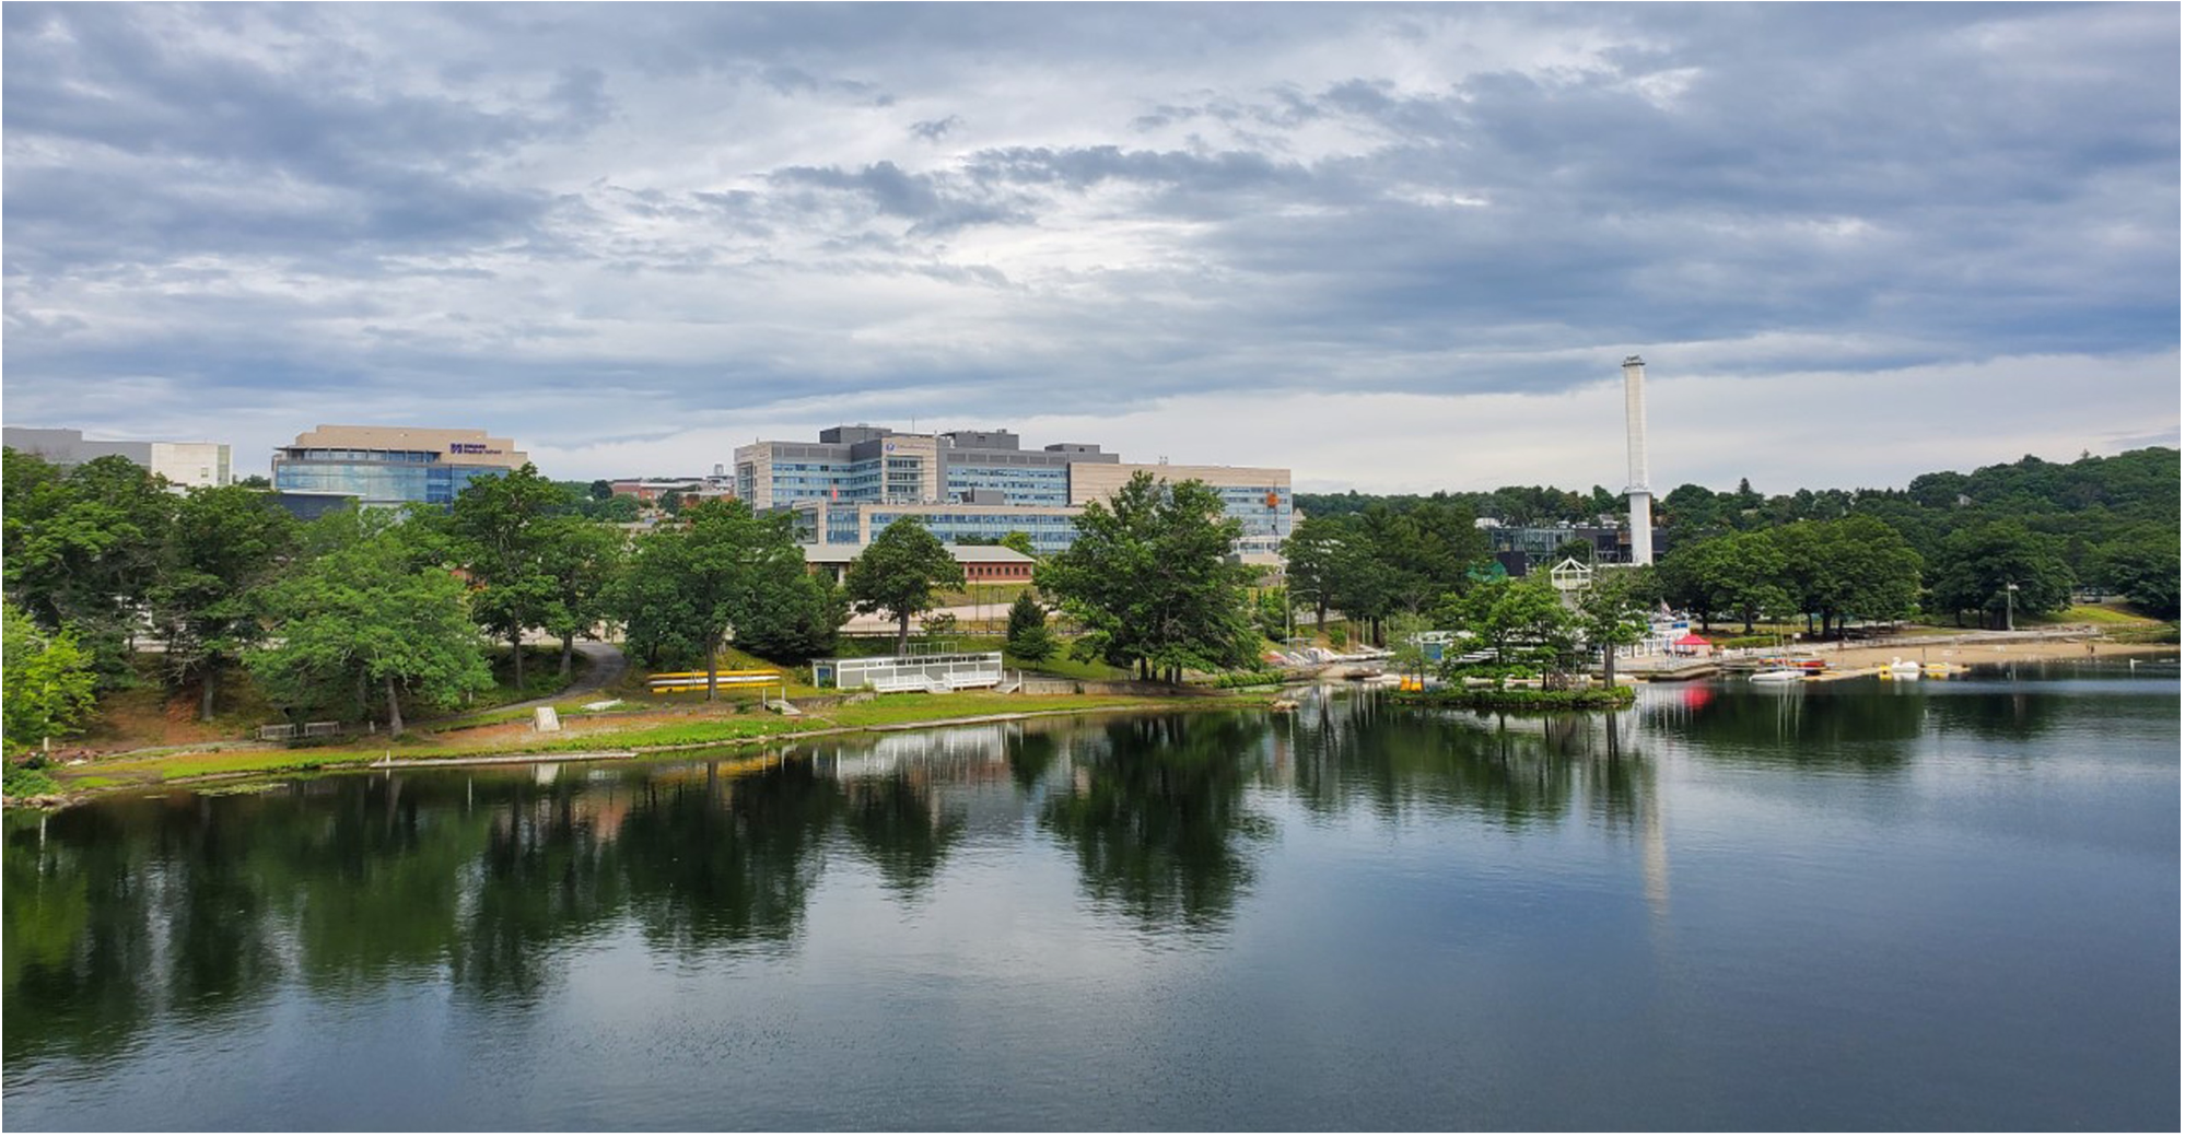
[{"label": "entire calm lake surface including the reflections", "polygon": [[2178,1128],[2178,672],[1322,698],[4,834],[33,1128]]}]

